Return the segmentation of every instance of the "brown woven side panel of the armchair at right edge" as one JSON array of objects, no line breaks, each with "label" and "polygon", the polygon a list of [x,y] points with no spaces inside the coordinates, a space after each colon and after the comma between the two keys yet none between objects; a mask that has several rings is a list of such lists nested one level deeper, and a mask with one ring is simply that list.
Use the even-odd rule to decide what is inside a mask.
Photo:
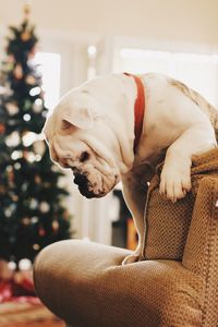
[{"label": "brown woven side panel of the armchair at right edge", "polygon": [[183,266],[205,280],[203,326],[217,325],[218,295],[218,177],[199,183],[184,247]]}]

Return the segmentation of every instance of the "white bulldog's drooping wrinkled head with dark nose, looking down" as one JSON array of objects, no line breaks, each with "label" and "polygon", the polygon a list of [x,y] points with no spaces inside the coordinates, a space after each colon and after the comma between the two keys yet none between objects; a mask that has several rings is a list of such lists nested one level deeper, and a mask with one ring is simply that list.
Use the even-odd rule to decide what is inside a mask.
[{"label": "white bulldog's drooping wrinkled head with dark nose, looking down", "polygon": [[76,89],[63,97],[44,126],[51,159],[72,169],[88,198],[106,195],[120,180],[119,143],[106,121],[98,101]]}]

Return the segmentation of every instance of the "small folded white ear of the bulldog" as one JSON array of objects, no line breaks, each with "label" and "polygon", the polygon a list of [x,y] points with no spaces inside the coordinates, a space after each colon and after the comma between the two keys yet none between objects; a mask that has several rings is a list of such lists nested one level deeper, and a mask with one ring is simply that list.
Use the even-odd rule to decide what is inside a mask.
[{"label": "small folded white ear of the bulldog", "polygon": [[62,114],[61,128],[70,129],[72,125],[82,130],[89,130],[94,126],[95,116],[93,110],[88,108],[78,108],[65,110]]}]

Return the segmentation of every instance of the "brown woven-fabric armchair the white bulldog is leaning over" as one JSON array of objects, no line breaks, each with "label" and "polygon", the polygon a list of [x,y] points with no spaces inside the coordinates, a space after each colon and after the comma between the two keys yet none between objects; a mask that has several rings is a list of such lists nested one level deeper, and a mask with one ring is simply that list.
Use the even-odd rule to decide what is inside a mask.
[{"label": "brown woven-fabric armchair the white bulldog is leaning over", "polygon": [[192,192],[177,204],[150,183],[144,261],[78,240],[35,262],[41,301],[74,327],[218,326],[218,149],[193,158]]}]

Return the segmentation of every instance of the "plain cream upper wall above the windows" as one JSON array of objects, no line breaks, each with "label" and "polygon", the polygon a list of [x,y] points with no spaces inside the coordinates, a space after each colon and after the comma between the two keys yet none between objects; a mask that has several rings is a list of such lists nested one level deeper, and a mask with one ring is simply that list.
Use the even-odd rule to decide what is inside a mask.
[{"label": "plain cream upper wall above the windows", "polygon": [[[0,0],[0,25],[20,20],[24,0]],[[217,0],[32,0],[43,29],[70,34],[218,41]]]}]

